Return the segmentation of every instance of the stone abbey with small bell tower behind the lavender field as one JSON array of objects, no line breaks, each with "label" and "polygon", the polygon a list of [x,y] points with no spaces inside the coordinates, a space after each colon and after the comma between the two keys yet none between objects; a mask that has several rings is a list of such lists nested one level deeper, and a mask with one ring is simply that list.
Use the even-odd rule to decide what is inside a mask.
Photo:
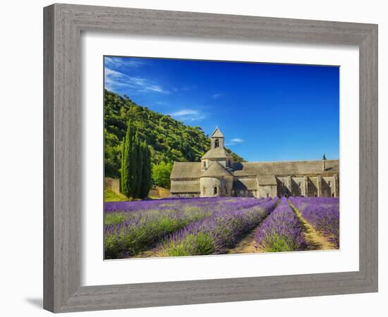
[{"label": "stone abbey with small bell tower behind the lavender field", "polygon": [[216,128],[200,162],[175,162],[171,197],[339,197],[339,160],[234,162]]}]

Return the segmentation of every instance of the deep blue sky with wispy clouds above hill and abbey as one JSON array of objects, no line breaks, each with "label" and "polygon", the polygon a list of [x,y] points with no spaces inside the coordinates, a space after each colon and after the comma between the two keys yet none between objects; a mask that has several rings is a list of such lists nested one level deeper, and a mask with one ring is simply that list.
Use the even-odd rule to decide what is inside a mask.
[{"label": "deep blue sky with wispy clouds above hill and abbey", "polygon": [[247,161],[339,159],[339,67],[104,57],[105,88]]}]

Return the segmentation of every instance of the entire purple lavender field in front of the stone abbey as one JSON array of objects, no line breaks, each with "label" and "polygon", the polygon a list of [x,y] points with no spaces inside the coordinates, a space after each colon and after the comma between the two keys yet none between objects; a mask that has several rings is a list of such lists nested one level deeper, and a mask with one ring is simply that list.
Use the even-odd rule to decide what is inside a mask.
[{"label": "entire purple lavender field in front of the stone abbey", "polygon": [[[295,209],[301,209],[295,211]],[[303,251],[296,213],[339,247],[338,199],[248,197],[158,199],[104,204],[105,259]],[[250,249],[238,247],[241,243]]]}]

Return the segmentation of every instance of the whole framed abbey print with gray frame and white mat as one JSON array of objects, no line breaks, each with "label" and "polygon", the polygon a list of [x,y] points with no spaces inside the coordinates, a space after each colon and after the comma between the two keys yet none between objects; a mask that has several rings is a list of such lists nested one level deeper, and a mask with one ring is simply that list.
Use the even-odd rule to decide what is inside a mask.
[{"label": "whole framed abbey print with gray frame and white mat", "polygon": [[376,291],[377,25],[44,8],[45,309]]}]

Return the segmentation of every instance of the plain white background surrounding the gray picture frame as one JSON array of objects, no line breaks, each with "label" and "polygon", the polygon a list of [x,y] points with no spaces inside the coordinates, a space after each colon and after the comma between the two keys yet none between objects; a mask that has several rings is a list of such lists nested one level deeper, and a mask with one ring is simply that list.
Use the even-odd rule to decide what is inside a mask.
[{"label": "plain white background surrounding the gray picture frame", "polygon": [[[49,316],[42,310],[42,8],[53,1],[4,1],[1,7],[1,314],[4,316]],[[176,11],[233,13],[278,18],[339,20],[379,24],[380,91],[380,177],[387,175],[381,162],[387,161],[387,8],[384,1],[225,1],[225,0],[110,0],[70,1],[72,4],[130,6]],[[384,147],[385,142],[385,147]],[[385,152],[385,153],[384,153]],[[6,181],[4,181],[6,180]],[[380,197],[387,185],[380,181]],[[331,297],[275,299],[175,306],[132,311],[97,311],[82,316],[382,316],[388,297],[387,200],[380,201],[380,293],[349,294]],[[383,249],[385,246],[385,250]],[[380,311],[380,313],[379,313]],[[80,316],[70,313],[67,316]]]}]

